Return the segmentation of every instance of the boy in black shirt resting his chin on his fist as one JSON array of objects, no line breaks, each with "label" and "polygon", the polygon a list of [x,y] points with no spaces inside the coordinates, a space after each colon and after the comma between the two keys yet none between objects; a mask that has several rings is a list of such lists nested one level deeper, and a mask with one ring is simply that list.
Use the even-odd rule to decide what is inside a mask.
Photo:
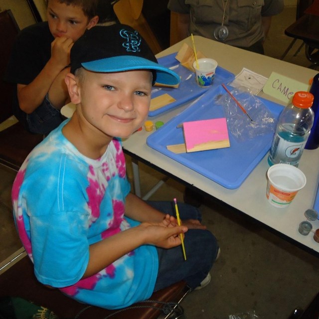
[{"label": "boy in black shirt resting his chin on his fist", "polygon": [[13,113],[28,131],[47,135],[62,122],[70,50],[98,22],[97,2],[48,0],[47,21],[17,36],[5,80],[16,83]]}]

